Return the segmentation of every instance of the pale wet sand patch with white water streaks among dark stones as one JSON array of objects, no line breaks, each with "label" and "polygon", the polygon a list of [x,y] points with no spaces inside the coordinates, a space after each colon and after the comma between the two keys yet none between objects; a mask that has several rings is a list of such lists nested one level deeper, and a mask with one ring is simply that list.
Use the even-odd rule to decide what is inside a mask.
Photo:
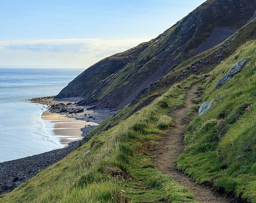
[{"label": "pale wet sand patch with white water streaks among dark stones", "polygon": [[56,138],[59,139],[61,145],[68,145],[69,142],[83,139],[81,128],[85,126],[99,125],[95,122],[88,122],[85,120],[77,120],[74,118],[68,118],[65,115],[51,113],[45,111],[41,115],[45,126],[49,126],[47,122],[53,123],[53,128],[47,128],[46,130],[52,130]]}]

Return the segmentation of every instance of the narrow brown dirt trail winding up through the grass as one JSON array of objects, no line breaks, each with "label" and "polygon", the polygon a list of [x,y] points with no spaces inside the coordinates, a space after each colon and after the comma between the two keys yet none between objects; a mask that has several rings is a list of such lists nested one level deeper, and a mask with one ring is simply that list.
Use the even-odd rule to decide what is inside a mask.
[{"label": "narrow brown dirt trail winding up through the grass", "polygon": [[169,113],[169,116],[173,118],[174,127],[159,141],[160,148],[155,160],[157,168],[162,173],[171,175],[177,183],[187,187],[194,194],[196,201],[208,203],[234,202],[229,198],[215,193],[205,185],[196,184],[187,175],[179,172],[176,167],[177,159],[184,149],[184,133],[189,123],[188,119],[184,118],[186,118],[186,113],[192,105],[192,100],[197,97],[197,88],[198,84],[195,84],[188,90],[184,107],[175,109]]}]

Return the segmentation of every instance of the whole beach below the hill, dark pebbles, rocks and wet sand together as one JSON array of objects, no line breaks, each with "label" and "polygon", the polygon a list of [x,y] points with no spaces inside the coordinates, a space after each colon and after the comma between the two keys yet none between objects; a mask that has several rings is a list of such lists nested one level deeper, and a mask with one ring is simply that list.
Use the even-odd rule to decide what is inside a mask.
[{"label": "whole beach below the hill, dark pebbles, rocks and wet sand together", "polygon": [[80,146],[82,138],[88,141],[87,134],[98,123],[115,113],[110,109],[89,110],[86,106],[77,106],[74,102],[55,101],[53,96],[33,98],[29,101],[48,105],[49,111],[41,115],[44,128],[53,132],[63,148],[0,163],[0,194],[10,192],[41,169],[67,156]]}]

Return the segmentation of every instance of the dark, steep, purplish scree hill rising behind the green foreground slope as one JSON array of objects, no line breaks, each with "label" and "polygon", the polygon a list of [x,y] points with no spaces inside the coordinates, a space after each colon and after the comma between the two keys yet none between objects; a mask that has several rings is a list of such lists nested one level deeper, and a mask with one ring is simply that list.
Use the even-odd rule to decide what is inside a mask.
[{"label": "dark, steep, purplish scree hill rising behind the green foreground slope", "polygon": [[[84,104],[98,101],[99,107],[120,108],[130,103],[146,85],[236,32],[255,17],[255,11],[255,0],[206,1],[155,38],[131,63],[102,79],[89,92],[81,92],[80,96],[86,97]],[[75,89],[66,88],[65,95],[77,96]]]}]

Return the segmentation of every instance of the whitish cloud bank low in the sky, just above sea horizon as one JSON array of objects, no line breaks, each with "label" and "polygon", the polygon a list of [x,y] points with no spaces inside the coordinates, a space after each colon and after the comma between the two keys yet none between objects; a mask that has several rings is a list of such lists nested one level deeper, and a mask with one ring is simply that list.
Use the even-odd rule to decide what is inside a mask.
[{"label": "whitish cloud bank low in the sky, just above sea horizon", "polygon": [[148,40],[72,38],[0,41],[0,66],[87,68],[102,58]]}]

